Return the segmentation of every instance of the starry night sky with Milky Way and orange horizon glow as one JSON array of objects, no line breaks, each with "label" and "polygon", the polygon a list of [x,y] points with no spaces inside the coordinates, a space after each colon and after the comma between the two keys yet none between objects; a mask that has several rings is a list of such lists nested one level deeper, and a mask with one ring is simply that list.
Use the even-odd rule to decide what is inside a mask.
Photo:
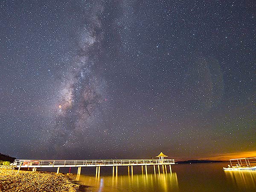
[{"label": "starry night sky with Milky Way and orange horizon glow", "polygon": [[0,153],[256,154],[256,6],[1,0]]}]

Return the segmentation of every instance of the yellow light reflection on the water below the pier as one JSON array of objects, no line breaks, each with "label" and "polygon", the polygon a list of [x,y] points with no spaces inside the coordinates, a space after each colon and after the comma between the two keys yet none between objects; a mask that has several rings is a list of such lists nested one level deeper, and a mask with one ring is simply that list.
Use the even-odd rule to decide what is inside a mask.
[{"label": "yellow light reflection on the water below the pier", "polygon": [[[90,186],[93,191],[104,192],[143,192],[143,191],[178,191],[176,173],[139,174],[92,177],[80,175],[79,180],[83,185]],[[77,178],[77,179],[78,179]],[[155,190],[154,190],[155,189]]]}]

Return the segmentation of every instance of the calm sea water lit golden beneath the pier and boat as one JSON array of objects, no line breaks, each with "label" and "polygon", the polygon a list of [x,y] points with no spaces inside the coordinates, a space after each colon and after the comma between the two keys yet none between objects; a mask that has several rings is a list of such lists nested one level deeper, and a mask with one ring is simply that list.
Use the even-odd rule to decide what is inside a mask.
[{"label": "calm sea water lit golden beneath the pier and boat", "polygon": [[87,192],[256,192],[256,171],[228,172],[224,166],[227,163],[172,165],[172,173],[166,174],[154,174],[153,166],[148,166],[147,175],[140,166],[134,166],[133,175],[128,175],[127,167],[119,167],[117,177],[111,167],[102,167],[97,178],[95,168],[83,168],[83,175],[73,176],[89,186]]}]

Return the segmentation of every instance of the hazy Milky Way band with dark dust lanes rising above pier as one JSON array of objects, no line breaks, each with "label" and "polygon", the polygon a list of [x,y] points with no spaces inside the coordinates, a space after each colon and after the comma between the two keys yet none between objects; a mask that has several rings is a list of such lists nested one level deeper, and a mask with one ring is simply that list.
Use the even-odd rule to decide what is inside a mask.
[{"label": "hazy Milky Way band with dark dust lanes rising above pier", "polygon": [[55,106],[52,113],[55,120],[49,140],[55,151],[61,153],[61,148],[65,145],[76,147],[87,140],[92,127],[97,126],[97,122],[101,120],[100,108],[107,102],[105,80],[94,72],[103,35],[97,15],[102,12],[103,7],[98,3],[90,6],[90,10],[86,12],[90,20],[85,20],[85,26],[79,30],[77,51],[61,79],[61,89],[55,95],[58,108]]}]

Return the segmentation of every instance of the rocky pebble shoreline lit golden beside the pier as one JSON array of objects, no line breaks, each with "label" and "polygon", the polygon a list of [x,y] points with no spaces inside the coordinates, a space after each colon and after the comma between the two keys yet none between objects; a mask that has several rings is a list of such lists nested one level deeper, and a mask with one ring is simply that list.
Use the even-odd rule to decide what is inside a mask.
[{"label": "rocky pebble shoreline lit golden beside the pier", "polygon": [[86,186],[67,175],[0,168],[0,192],[82,192]]}]

